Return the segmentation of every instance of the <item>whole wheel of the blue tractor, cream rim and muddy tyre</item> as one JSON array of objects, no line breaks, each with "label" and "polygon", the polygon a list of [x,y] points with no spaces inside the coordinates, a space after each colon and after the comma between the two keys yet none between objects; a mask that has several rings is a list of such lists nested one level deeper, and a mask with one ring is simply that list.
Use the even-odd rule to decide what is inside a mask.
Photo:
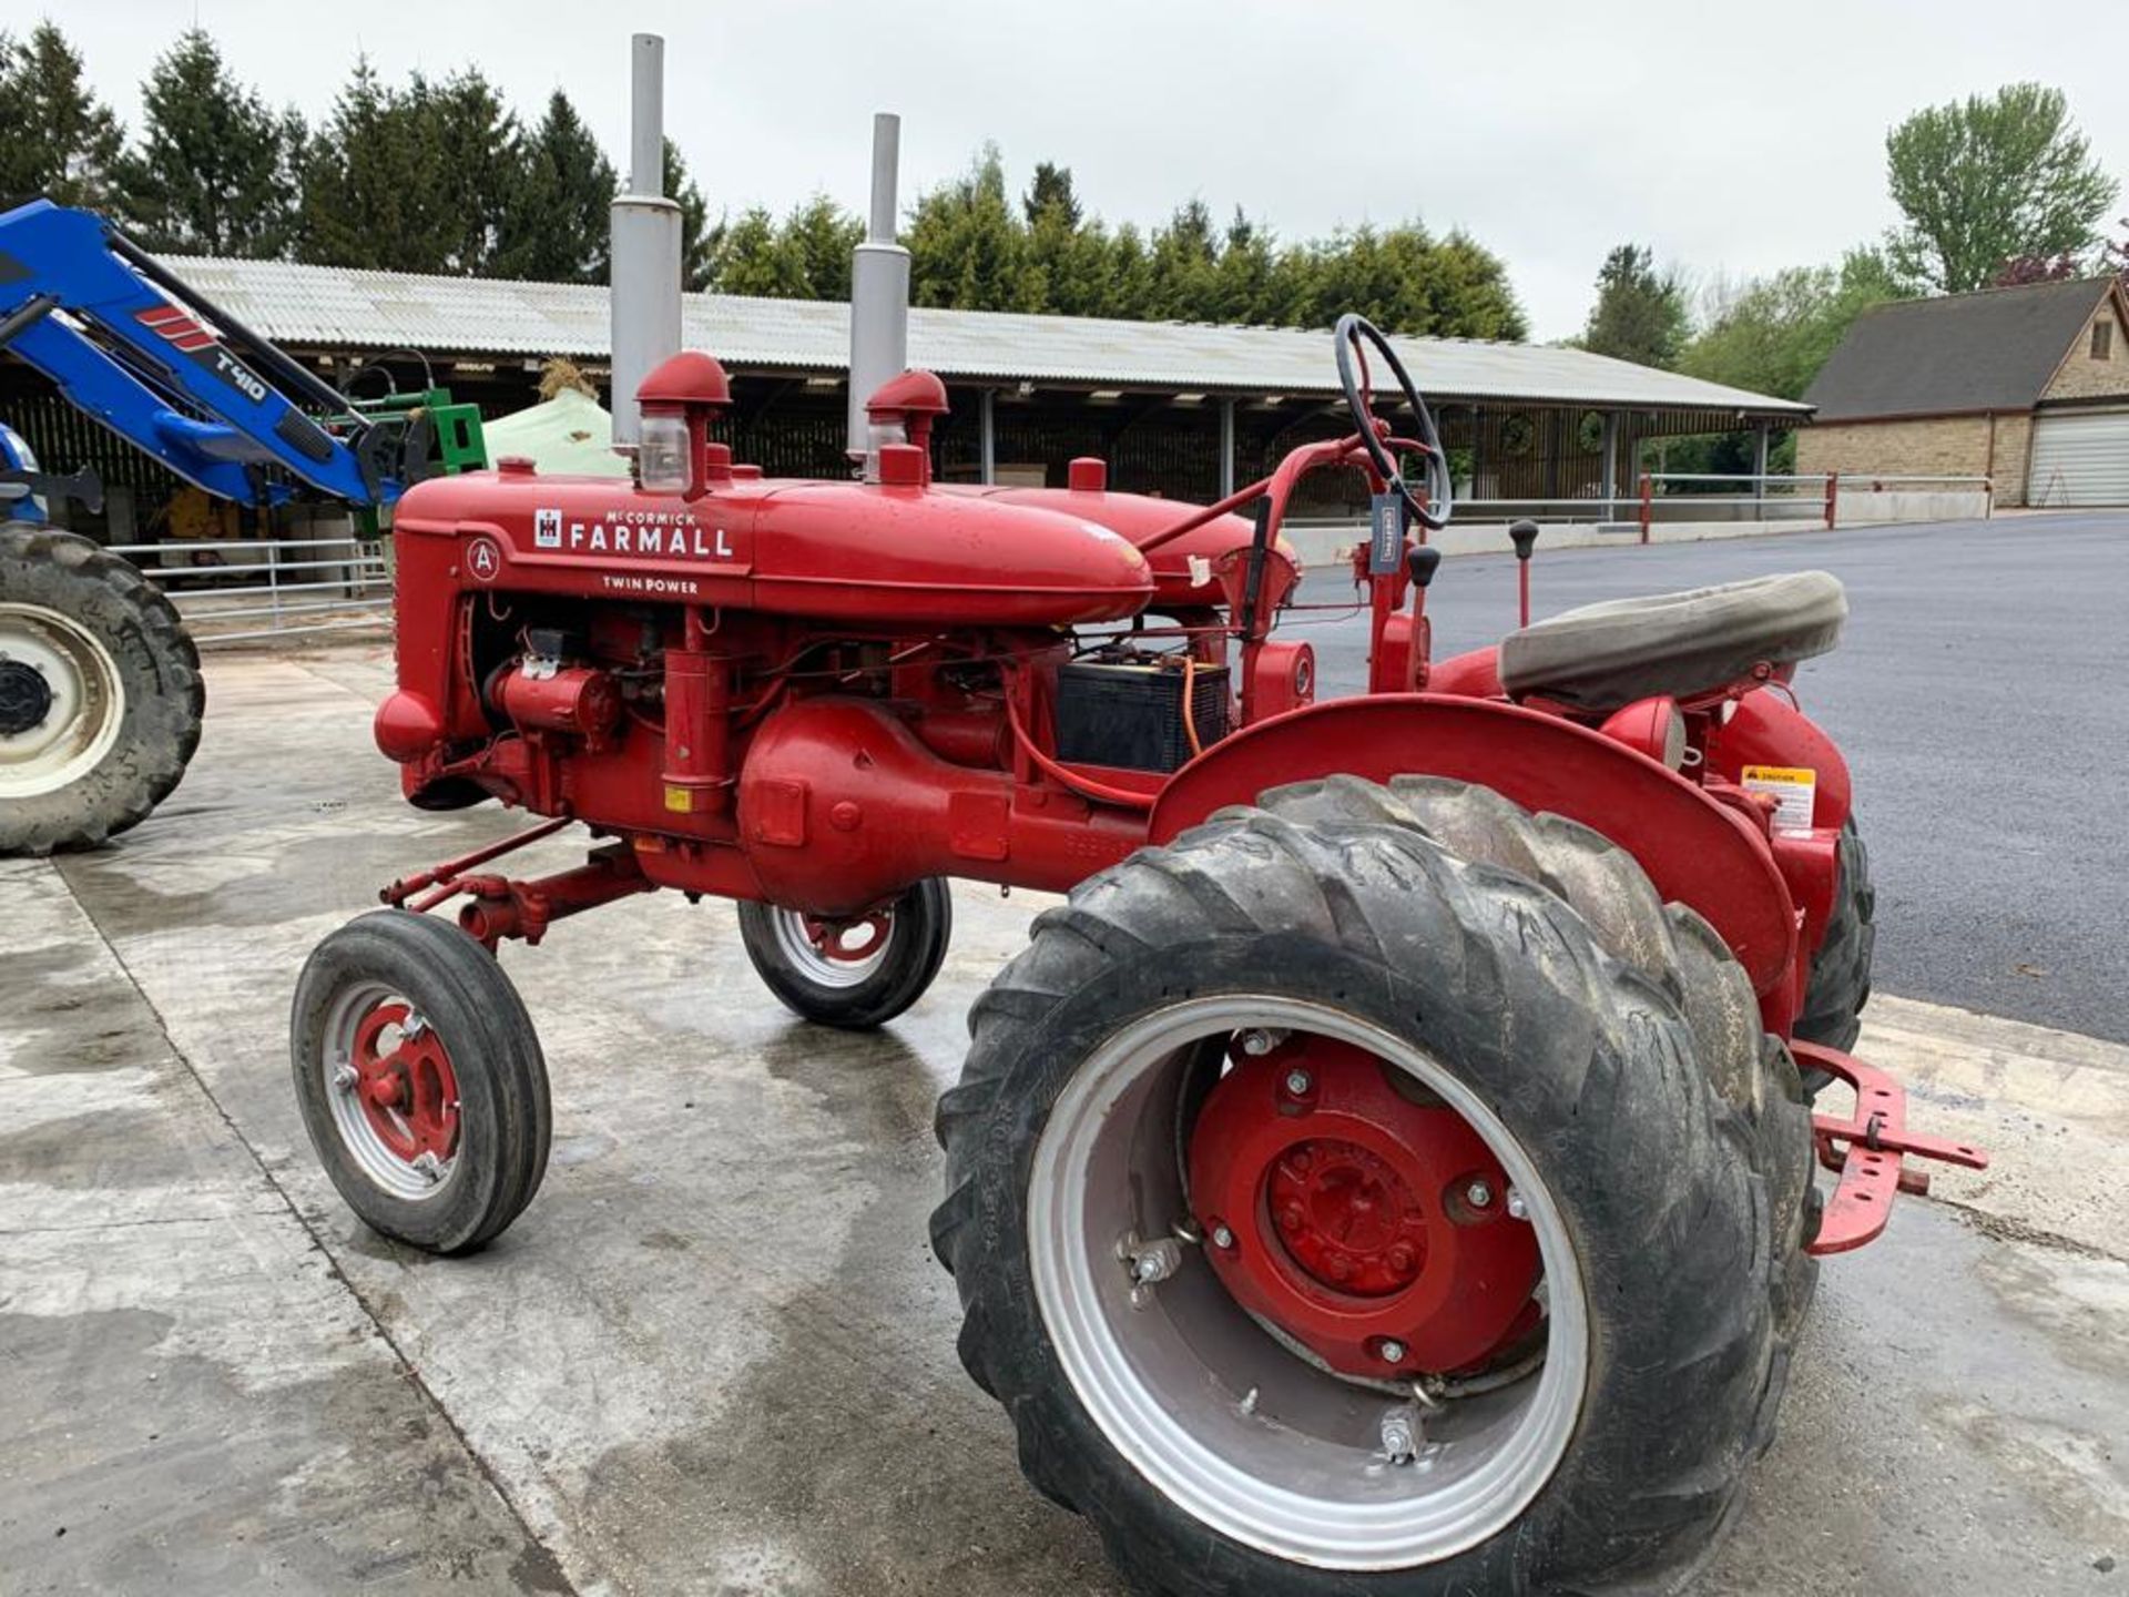
[{"label": "whole wheel of the blue tractor, cream rim and muddy tyre", "polygon": [[0,528],[0,854],[94,847],[170,796],[207,690],[185,624],[134,566]]}]

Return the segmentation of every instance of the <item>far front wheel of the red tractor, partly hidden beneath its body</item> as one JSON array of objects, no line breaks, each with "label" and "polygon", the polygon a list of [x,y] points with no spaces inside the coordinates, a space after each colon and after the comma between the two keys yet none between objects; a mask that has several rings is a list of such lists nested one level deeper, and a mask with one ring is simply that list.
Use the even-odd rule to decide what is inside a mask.
[{"label": "far front wheel of the red tractor, partly hidden beneath its body", "polygon": [[847,920],[741,901],[739,937],[794,1016],[871,1031],[922,999],[939,975],[954,939],[954,899],[933,877]]}]

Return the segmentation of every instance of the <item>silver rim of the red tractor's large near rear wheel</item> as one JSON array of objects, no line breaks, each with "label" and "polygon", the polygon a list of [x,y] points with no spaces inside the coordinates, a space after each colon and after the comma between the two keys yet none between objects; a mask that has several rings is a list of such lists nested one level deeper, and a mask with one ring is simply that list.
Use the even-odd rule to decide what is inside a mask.
[{"label": "silver rim of the red tractor's large near rear wheel", "polygon": [[[1303,1363],[1250,1320],[1199,1250],[1133,1307],[1118,1237],[1188,1216],[1175,1105],[1194,1043],[1250,1026],[1367,1048],[1439,1094],[1526,1205],[1544,1261],[1544,1365],[1426,1412],[1426,1448],[1392,1465],[1392,1401]],[[1058,1363],[1109,1444],[1177,1508],[1235,1542],[1324,1569],[1439,1563],[1507,1529],[1558,1469],[1588,1386],[1573,1244],[1537,1167],[1439,1060],[1354,1016],[1280,997],[1192,999],[1135,1020],[1075,1071],[1028,1184],[1035,1301]],[[1254,1397],[1252,1397],[1254,1393]]]}]

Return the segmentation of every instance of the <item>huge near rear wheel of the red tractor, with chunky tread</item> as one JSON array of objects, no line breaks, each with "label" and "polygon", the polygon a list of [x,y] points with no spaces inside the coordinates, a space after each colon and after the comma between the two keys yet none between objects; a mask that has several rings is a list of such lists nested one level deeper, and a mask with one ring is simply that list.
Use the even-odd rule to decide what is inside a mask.
[{"label": "huge near rear wheel of the red tractor, with chunky tread", "polygon": [[977,1003],[962,1363],[1145,1593],[1669,1588],[1786,1376],[1803,1199],[1724,1088],[1793,1103],[1786,1054],[1690,1011],[1697,933],[1652,977],[1307,786],[1092,877]]}]

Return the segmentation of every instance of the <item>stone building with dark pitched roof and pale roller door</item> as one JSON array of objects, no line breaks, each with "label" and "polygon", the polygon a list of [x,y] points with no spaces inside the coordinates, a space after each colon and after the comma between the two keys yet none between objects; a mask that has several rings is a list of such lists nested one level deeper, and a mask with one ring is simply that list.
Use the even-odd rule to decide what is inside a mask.
[{"label": "stone building with dark pitched roof and pale roller door", "polygon": [[2129,505],[2129,298],[2116,279],[1865,311],[1803,396],[1797,471],[1988,477],[1997,505]]}]

